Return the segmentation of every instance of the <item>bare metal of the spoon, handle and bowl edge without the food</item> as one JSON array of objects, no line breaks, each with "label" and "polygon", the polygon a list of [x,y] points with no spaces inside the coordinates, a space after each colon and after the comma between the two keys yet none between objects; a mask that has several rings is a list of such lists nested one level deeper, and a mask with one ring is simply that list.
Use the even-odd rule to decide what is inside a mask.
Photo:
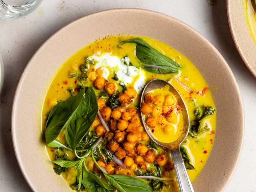
[{"label": "bare metal of the spoon, handle and bowl edge without the food", "polygon": [[156,137],[154,137],[152,135],[150,128],[146,124],[145,115],[141,113],[142,122],[143,122],[143,125],[144,125],[149,137],[154,142],[159,144],[160,146],[162,146],[164,148],[169,148],[169,150],[171,151],[171,157],[173,158],[174,170],[176,173],[180,192],[194,192],[193,186],[192,186],[189,176],[187,174],[187,170],[186,170],[185,164],[183,162],[183,159],[182,159],[182,156],[180,153],[180,144],[184,141],[184,139],[187,137],[188,132],[189,132],[189,116],[188,116],[187,107],[186,107],[184,100],[180,96],[179,92],[170,83],[168,83],[167,81],[161,80],[161,79],[153,79],[152,81],[147,83],[147,85],[145,86],[145,88],[142,92],[141,105],[144,102],[145,95],[149,91],[151,91],[153,89],[162,88],[165,85],[169,85],[169,87],[170,87],[169,90],[174,94],[180,107],[182,108],[182,115],[183,115],[183,119],[184,119],[184,130],[183,130],[182,135],[176,141],[171,142],[171,143],[160,142],[159,140],[157,140]]}]

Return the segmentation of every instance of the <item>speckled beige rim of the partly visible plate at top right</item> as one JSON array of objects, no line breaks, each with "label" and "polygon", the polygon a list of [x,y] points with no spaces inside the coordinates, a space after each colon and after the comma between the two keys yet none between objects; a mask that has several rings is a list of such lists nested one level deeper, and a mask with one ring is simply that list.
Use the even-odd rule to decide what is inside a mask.
[{"label": "speckled beige rim of the partly visible plate at top right", "polygon": [[245,0],[227,0],[228,22],[241,58],[256,77],[256,42],[252,39],[247,24],[245,3]]}]

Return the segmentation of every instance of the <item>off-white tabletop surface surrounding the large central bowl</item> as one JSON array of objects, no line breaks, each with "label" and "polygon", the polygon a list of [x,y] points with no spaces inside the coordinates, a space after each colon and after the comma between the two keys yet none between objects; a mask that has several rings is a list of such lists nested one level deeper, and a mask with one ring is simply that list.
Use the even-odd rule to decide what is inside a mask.
[{"label": "off-white tabletop surface surrounding the large central bowl", "polygon": [[0,94],[0,191],[31,191],[20,172],[11,140],[13,96],[29,59],[46,39],[70,22],[121,7],[150,9],[178,18],[204,35],[226,59],[244,102],[245,137],[239,163],[224,191],[256,192],[256,78],[234,45],[225,0],[43,0],[28,16],[0,20],[0,53],[5,68]]}]

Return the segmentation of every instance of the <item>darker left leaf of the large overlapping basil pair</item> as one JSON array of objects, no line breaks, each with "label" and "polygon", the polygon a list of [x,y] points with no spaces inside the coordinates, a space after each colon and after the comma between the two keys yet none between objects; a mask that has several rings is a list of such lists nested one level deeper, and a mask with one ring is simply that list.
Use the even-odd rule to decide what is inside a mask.
[{"label": "darker left leaf of the large overlapping basil pair", "polygon": [[54,141],[59,133],[63,131],[63,126],[76,110],[83,99],[84,91],[81,90],[76,96],[65,102],[58,102],[52,107],[52,111],[47,119],[45,128],[46,143],[50,144]]}]

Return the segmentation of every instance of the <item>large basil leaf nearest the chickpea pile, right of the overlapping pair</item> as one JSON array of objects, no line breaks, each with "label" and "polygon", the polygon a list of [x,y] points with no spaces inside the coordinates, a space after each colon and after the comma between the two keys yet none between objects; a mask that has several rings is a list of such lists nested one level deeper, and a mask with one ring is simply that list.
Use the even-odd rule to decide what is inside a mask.
[{"label": "large basil leaf nearest the chickpea pile, right of the overlapping pair", "polygon": [[93,88],[90,86],[79,103],[76,110],[65,123],[65,137],[70,148],[75,151],[98,112],[97,98]]}]

